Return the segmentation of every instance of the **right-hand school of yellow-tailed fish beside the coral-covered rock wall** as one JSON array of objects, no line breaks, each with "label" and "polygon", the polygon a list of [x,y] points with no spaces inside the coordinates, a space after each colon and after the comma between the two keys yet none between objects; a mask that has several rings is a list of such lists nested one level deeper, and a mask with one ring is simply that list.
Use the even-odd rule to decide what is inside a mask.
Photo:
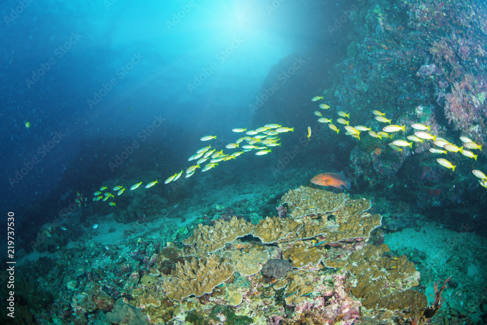
[{"label": "right-hand school of yellow-tailed fish beside the coral-covered rock wall", "polygon": [[[320,99],[323,99],[322,96],[315,96],[311,99],[311,101],[318,101]],[[319,104],[319,108],[321,109],[329,109],[330,106],[326,104]],[[379,112],[377,110],[372,111],[372,114],[375,115],[375,120],[381,123],[388,123],[385,127],[382,128],[382,131],[375,132],[371,128],[365,127],[363,125],[356,125],[356,126],[350,126],[349,121],[344,119],[344,117],[350,119],[350,113],[345,113],[343,111],[338,111],[337,115],[341,116],[337,118],[337,122],[344,125],[345,129],[345,134],[350,135],[358,140],[360,140],[360,133],[362,131],[367,131],[368,134],[372,137],[375,138],[390,138],[391,140],[393,139],[393,134],[396,134],[397,132],[406,132],[406,126],[405,125],[396,125],[396,124],[391,124],[392,119],[388,119],[385,116],[385,113]],[[335,126],[333,123],[333,118],[325,118],[319,111],[315,111],[314,115],[319,116],[318,122],[320,123],[329,123],[328,127],[335,131],[337,134],[339,134],[340,130]],[[437,135],[432,135],[429,132],[431,131],[431,127],[421,124],[421,123],[413,123],[411,125],[412,129],[415,130],[414,134],[406,136],[406,139],[396,139],[393,140],[391,143],[389,143],[389,146],[393,150],[397,150],[399,152],[402,152],[403,147],[410,147],[412,148],[412,143],[413,142],[423,142],[424,140],[431,140],[433,144],[439,148],[430,148],[431,153],[435,154],[447,154],[447,152],[451,153],[462,153],[464,156],[468,158],[475,159],[477,161],[477,154],[473,153],[470,150],[482,150],[482,145],[479,145],[478,143],[475,143],[472,139],[470,139],[467,136],[460,136],[460,141],[462,141],[462,145],[456,146],[453,143],[450,143],[448,140],[439,137]],[[310,128],[308,127],[308,139],[310,135]],[[408,142],[408,140],[410,142]],[[470,149],[470,150],[467,150]],[[453,165],[449,160],[445,158],[437,158],[436,161],[443,167],[451,169],[453,172],[455,171],[455,168],[457,165]],[[485,173],[479,171],[479,170],[473,170],[472,173],[480,178],[479,183],[483,187],[487,188],[487,177]]]}]

